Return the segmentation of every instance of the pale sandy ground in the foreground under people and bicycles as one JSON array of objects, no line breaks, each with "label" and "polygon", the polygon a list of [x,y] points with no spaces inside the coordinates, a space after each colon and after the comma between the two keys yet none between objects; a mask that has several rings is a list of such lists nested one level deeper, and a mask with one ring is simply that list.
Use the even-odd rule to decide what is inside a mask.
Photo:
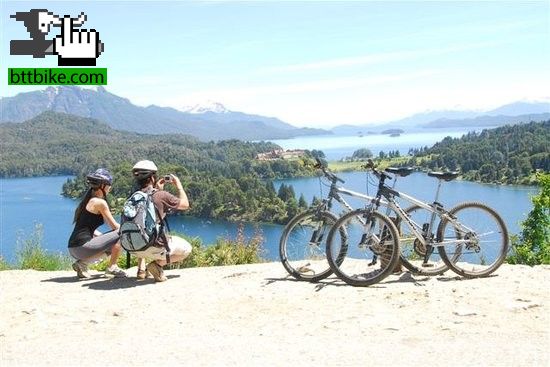
[{"label": "pale sandy ground in the foreground under people and bicycles", "polygon": [[0,272],[2,366],[550,363],[547,265],[367,288],[295,281],[279,263],[129,274]]}]

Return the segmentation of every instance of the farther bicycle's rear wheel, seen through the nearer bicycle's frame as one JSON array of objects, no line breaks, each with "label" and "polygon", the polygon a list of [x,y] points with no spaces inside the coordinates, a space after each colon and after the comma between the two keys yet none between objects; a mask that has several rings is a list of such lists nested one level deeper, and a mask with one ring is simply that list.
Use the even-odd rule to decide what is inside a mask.
[{"label": "farther bicycle's rear wheel, seen through the nearer bicycle's frame", "polygon": [[[420,232],[425,232],[430,225],[432,212],[426,210],[418,205],[413,205],[405,209],[407,215],[418,224],[420,228],[416,228]],[[415,226],[416,227],[416,226]],[[436,247],[427,247],[424,245],[411,230],[411,228],[404,223],[403,219],[399,219],[397,223],[397,229],[399,230],[399,248],[401,250],[401,262],[403,266],[410,272],[420,275],[439,275],[443,274],[449,267],[443,261]],[[435,225],[433,227],[435,230]],[[432,233],[427,233],[425,237],[429,241]],[[424,262],[426,252],[431,252],[427,261]]]}]

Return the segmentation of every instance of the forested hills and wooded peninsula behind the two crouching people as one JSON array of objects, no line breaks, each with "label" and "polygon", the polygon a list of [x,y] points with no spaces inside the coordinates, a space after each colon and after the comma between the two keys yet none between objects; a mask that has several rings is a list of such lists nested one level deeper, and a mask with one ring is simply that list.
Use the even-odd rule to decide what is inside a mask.
[{"label": "forested hills and wooded peninsula behind the two crouching people", "polygon": [[191,200],[190,215],[228,220],[285,223],[299,205],[291,187],[276,191],[272,180],[312,175],[304,159],[258,161],[256,154],[280,149],[272,143],[238,140],[200,142],[185,135],[145,135],[113,130],[97,120],[45,112],[24,123],[1,124],[4,155],[0,177],[74,175],[63,195],[79,198],[84,177],[109,169],[109,201],[119,209],[131,194],[132,165],[154,161],[159,174],[180,177]]}]

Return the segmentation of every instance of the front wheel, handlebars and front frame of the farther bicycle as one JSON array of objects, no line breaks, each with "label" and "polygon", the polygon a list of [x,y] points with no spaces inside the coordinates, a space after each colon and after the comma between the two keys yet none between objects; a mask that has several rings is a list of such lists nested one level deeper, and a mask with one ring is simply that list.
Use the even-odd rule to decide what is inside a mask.
[{"label": "front wheel, handlebars and front frame of the farther bicycle", "polygon": [[[346,212],[353,208],[344,200],[347,195],[370,202],[372,196],[364,195],[338,186],[345,181],[328,171],[319,160],[316,168],[330,181],[328,195],[315,208],[299,213],[285,226],[279,242],[279,257],[287,272],[298,280],[311,282],[319,281],[332,274],[326,260],[326,234],[337,221],[338,217],[331,212],[333,201],[342,205]],[[412,169],[401,169],[400,175],[406,176]],[[382,202],[382,205],[384,203]],[[343,241],[346,238],[346,229],[341,229]]]}]

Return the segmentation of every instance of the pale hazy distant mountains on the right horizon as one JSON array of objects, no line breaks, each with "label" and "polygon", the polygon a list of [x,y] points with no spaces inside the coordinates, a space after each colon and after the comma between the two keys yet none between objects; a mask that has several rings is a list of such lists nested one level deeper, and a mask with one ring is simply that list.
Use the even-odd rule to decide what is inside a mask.
[{"label": "pale hazy distant mountains on the right horizon", "polygon": [[338,135],[356,135],[358,132],[377,132],[386,129],[414,131],[426,128],[491,127],[528,121],[547,120],[549,102],[514,102],[489,111],[443,110],[417,113],[400,120],[370,125],[339,125],[331,131]]}]

